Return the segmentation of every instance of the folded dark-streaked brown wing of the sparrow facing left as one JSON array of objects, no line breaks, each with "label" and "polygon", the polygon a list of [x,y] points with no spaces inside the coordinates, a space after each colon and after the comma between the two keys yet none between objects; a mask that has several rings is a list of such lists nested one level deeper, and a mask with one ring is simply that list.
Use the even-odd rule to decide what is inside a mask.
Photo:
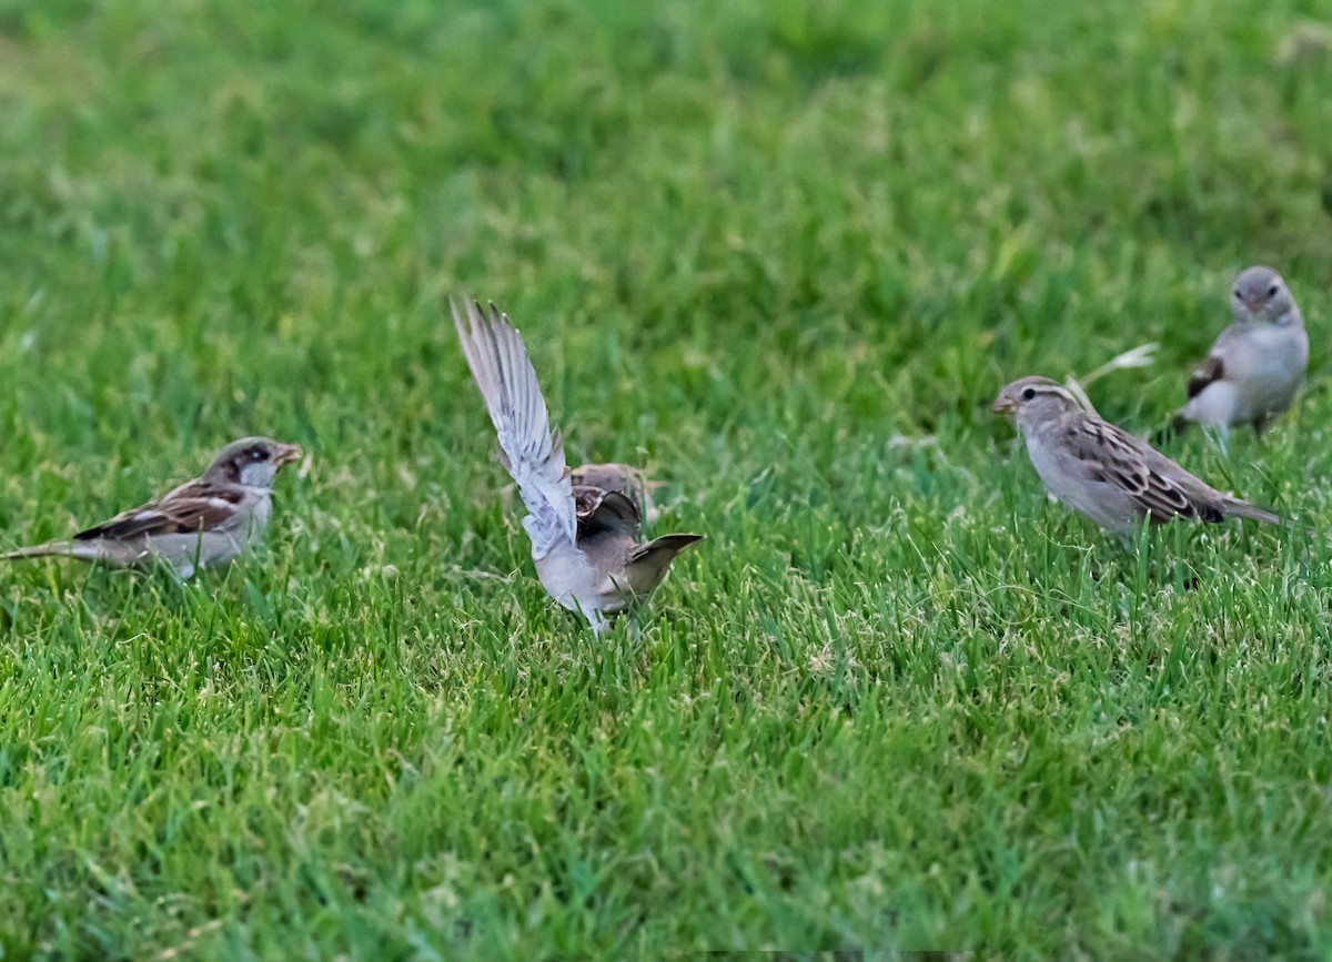
[{"label": "folded dark-streaked brown wing of the sparrow facing left", "polygon": [[1154,524],[1176,517],[1225,520],[1220,494],[1122,428],[1078,417],[1067,432],[1070,450],[1088,476],[1128,494]]}]

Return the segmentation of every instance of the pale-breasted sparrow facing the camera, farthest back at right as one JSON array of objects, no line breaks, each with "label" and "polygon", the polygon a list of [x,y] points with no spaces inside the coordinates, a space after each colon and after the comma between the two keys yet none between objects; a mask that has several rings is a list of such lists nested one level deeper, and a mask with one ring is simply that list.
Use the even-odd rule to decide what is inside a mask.
[{"label": "pale-breasted sparrow facing the camera, farthest back at right", "polygon": [[1285,281],[1272,268],[1240,272],[1231,289],[1233,322],[1188,380],[1183,421],[1216,428],[1265,424],[1291,406],[1309,366],[1309,336]]}]

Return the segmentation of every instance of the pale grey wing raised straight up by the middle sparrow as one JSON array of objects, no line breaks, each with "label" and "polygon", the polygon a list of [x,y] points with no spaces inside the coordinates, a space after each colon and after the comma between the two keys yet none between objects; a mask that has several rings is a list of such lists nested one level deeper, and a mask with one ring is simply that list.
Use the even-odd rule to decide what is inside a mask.
[{"label": "pale grey wing raised straight up by the middle sparrow", "polygon": [[450,300],[449,306],[462,353],[500,437],[505,468],[518,482],[527,508],[522,525],[531,538],[531,557],[545,557],[561,541],[575,544],[578,520],[563,440],[550,429],[546,400],[522,336],[494,304],[484,312],[469,301],[466,324],[458,305]]}]

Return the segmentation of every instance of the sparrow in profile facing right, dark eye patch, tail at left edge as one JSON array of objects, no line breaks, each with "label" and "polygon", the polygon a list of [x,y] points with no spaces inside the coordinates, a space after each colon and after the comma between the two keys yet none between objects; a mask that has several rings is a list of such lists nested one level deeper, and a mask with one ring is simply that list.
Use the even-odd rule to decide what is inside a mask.
[{"label": "sparrow in profile facing right, dark eye patch, tail at left edge", "polygon": [[204,476],[79,532],[69,541],[20,548],[3,561],[64,556],[112,565],[164,561],[182,577],[221,565],[262,537],[273,509],[273,478],[301,449],[266,437],[245,437],[222,449]]}]

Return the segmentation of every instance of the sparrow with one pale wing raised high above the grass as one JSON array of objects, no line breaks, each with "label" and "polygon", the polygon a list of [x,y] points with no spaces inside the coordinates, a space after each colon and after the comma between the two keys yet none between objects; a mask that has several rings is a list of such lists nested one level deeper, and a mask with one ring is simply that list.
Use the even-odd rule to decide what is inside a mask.
[{"label": "sparrow with one pale wing raised high above the grass", "polygon": [[642,544],[647,484],[623,465],[583,465],[578,481],[537,382],[522,336],[492,304],[468,302],[466,322],[452,300],[453,322],[490,421],[501,461],[527,508],[537,577],[551,598],[582,612],[594,634],[645,600],[665,580],[675,556],[701,534],[666,534]]}]

